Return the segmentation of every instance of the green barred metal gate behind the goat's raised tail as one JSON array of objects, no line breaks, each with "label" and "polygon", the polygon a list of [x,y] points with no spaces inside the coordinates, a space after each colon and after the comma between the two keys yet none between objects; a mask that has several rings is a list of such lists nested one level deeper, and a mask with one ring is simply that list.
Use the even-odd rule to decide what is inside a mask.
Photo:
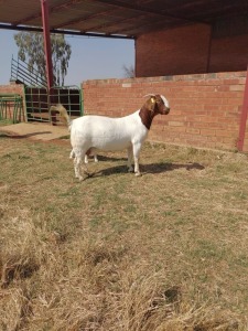
[{"label": "green barred metal gate behind the goat's raised tail", "polygon": [[50,111],[52,105],[62,104],[72,118],[83,115],[82,92],[77,86],[45,87],[25,86],[25,111],[28,121],[60,125],[56,113]]}]

